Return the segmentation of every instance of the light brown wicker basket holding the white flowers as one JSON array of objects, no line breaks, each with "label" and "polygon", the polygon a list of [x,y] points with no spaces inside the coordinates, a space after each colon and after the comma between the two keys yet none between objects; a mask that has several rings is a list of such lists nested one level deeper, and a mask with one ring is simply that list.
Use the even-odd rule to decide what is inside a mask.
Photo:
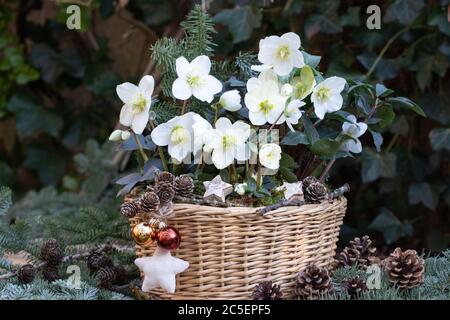
[{"label": "light brown wicker basket holding the white flowers", "polygon": [[[292,298],[300,269],[333,262],[346,207],[340,197],[260,216],[256,208],[175,204],[167,223],[180,231],[182,242],[173,254],[190,266],[177,276],[175,294],[151,293],[163,299],[245,300],[256,284],[272,280]],[[132,227],[138,222],[130,219]],[[136,245],[136,255],[150,256],[154,249]]]}]

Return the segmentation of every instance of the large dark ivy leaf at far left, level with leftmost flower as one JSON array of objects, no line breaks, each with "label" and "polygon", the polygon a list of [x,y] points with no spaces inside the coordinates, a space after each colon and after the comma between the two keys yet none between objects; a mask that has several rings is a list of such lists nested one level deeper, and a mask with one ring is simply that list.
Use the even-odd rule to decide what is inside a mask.
[{"label": "large dark ivy leaf at far left, level with leftmost flower", "polygon": [[15,94],[9,100],[7,108],[16,115],[17,131],[23,136],[43,131],[56,137],[63,126],[61,117],[38,105],[27,94]]}]

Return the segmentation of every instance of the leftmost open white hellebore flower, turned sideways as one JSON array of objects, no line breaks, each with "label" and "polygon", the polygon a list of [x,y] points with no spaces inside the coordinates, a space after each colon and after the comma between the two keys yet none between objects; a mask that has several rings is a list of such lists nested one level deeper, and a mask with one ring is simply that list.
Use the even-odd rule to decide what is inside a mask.
[{"label": "leftmost open white hellebore flower, turned sideways", "polygon": [[117,95],[124,103],[120,111],[120,123],[141,134],[147,126],[155,81],[152,76],[144,76],[139,85],[129,82],[116,87]]}]

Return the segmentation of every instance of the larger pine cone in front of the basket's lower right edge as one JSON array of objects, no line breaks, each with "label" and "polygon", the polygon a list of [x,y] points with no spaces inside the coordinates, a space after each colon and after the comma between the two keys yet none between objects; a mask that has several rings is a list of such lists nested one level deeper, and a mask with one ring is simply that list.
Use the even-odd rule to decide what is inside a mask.
[{"label": "larger pine cone in front of the basket's lower right edge", "polygon": [[331,287],[328,270],[310,265],[299,272],[294,294],[300,299],[316,298]]}]

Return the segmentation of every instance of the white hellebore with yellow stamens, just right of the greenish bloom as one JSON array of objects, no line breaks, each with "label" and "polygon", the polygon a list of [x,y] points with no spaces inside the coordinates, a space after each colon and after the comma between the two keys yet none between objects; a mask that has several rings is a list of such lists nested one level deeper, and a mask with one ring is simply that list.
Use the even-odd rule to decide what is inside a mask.
[{"label": "white hellebore with yellow stamens, just right of the greenish bloom", "polygon": [[341,92],[344,87],[345,79],[331,77],[314,88],[311,101],[314,104],[314,112],[319,119],[323,119],[327,112],[335,112],[341,109],[343,102]]}]

